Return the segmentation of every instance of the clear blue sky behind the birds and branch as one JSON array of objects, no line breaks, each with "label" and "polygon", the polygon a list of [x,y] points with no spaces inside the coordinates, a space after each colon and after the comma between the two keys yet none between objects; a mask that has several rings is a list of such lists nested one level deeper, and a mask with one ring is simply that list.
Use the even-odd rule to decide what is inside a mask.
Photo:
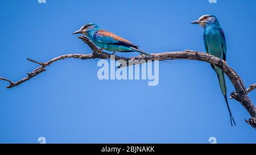
[{"label": "clear blue sky behind the birds and branch", "polygon": [[[0,6],[0,77],[13,81],[68,53],[91,53],[72,35],[97,23],[138,44],[143,51],[192,49],[204,52],[203,28],[192,25],[213,14],[225,31],[227,61],[246,86],[255,83],[256,1],[68,1],[3,0]],[[118,53],[136,56],[137,53]],[[13,89],[0,82],[0,143],[256,143],[250,116],[229,100],[237,126],[231,127],[225,100],[209,64],[160,62],[159,85],[146,80],[100,81],[98,60],[64,60]],[[228,93],[234,91],[227,79]],[[249,97],[256,100],[255,91]]]}]

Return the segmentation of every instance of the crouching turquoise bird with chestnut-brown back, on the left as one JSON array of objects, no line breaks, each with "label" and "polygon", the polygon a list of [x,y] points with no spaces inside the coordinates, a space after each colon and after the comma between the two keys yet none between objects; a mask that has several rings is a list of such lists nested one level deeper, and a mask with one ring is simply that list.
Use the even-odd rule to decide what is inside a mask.
[{"label": "crouching turquoise bird with chestnut-brown back, on the left", "polygon": [[100,50],[105,49],[106,51],[115,52],[139,52],[143,55],[154,57],[146,52],[143,52],[130,41],[123,39],[115,35],[112,32],[102,30],[97,24],[88,23],[80,28],[80,30],[74,32],[73,34],[82,33],[87,36],[92,42],[100,47]]}]

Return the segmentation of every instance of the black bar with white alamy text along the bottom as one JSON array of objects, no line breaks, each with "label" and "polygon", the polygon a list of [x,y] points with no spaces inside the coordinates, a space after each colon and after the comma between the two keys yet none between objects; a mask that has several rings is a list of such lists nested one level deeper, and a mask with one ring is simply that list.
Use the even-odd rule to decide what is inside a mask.
[{"label": "black bar with white alamy text along the bottom", "polygon": [[245,148],[256,148],[256,144],[0,144],[0,149],[9,153],[19,150],[19,153],[68,154],[219,154],[222,150],[235,153]]}]

